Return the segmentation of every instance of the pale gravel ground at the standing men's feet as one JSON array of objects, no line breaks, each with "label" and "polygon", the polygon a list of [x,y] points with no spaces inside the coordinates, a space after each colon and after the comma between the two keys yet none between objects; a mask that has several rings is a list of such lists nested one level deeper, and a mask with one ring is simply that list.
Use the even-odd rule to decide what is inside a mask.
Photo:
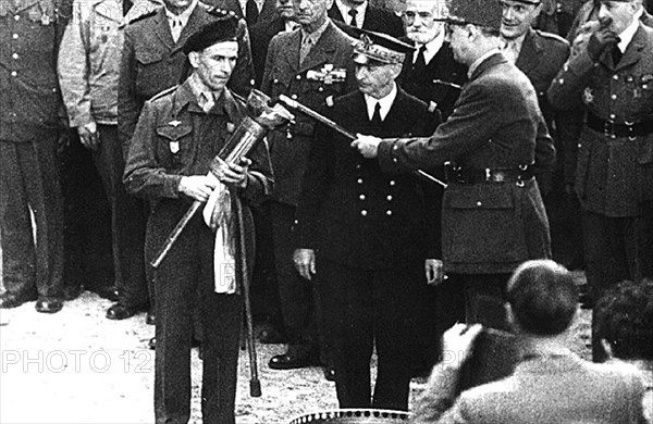
[{"label": "pale gravel ground at the standing men's feet", "polygon": [[[0,310],[0,423],[135,424],[152,423],[155,353],[147,341],[155,328],[138,315],[108,321],[111,304],[85,292],[53,315],[39,314],[35,302]],[[587,357],[589,313],[570,333],[569,346]],[[320,369],[269,370],[281,345],[258,345],[262,397],[249,397],[249,366],[242,352],[237,392],[238,424],[288,423],[317,410],[337,408],[335,387]],[[201,362],[193,353],[193,420],[201,423]],[[423,381],[411,384],[411,403]]]}]

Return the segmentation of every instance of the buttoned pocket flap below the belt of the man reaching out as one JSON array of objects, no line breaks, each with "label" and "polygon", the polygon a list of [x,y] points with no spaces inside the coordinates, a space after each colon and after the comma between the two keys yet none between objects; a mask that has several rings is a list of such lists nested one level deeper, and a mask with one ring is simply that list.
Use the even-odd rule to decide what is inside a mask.
[{"label": "buttoned pocket flap below the belt of the man reaching out", "polygon": [[446,196],[452,209],[510,209],[515,205],[510,187],[506,184],[475,184],[449,186]]}]

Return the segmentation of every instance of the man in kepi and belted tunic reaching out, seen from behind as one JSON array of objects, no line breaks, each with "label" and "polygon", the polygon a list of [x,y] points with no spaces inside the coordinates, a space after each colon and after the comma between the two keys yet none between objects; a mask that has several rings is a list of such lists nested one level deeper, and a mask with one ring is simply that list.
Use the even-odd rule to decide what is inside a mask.
[{"label": "man in kepi and belted tunic reaching out, seen from behind", "polygon": [[500,51],[497,1],[454,0],[446,18],[454,59],[469,83],[448,121],[429,138],[360,136],[353,146],[386,172],[449,162],[442,205],[444,271],[464,285],[467,321],[505,327],[510,272],[551,255],[535,175],[554,148],[535,91]]}]

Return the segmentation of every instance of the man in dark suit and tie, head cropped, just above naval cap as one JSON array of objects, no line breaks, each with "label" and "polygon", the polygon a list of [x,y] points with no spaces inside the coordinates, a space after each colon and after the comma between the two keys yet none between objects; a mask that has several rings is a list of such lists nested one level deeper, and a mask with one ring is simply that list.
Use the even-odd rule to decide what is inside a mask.
[{"label": "man in dark suit and tie, head cropped, just above naval cap", "polygon": [[[368,3],[368,0],[335,0],[329,10],[329,17],[350,27],[364,28],[393,37],[404,35],[402,20],[394,13]],[[347,34],[355,36],[346,26],[341,26]]]}]

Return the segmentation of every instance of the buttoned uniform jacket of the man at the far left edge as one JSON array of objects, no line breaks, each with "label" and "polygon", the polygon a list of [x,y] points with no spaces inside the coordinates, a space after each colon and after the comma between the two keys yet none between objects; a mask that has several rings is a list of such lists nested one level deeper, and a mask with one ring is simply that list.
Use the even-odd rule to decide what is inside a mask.
[{"label": "buttoned uniform jacket of the man at the far left edge", "polygon": [[0,1],[0,139],[38,140],[63,119],[57,52],[70,7],[64,0]]}]

